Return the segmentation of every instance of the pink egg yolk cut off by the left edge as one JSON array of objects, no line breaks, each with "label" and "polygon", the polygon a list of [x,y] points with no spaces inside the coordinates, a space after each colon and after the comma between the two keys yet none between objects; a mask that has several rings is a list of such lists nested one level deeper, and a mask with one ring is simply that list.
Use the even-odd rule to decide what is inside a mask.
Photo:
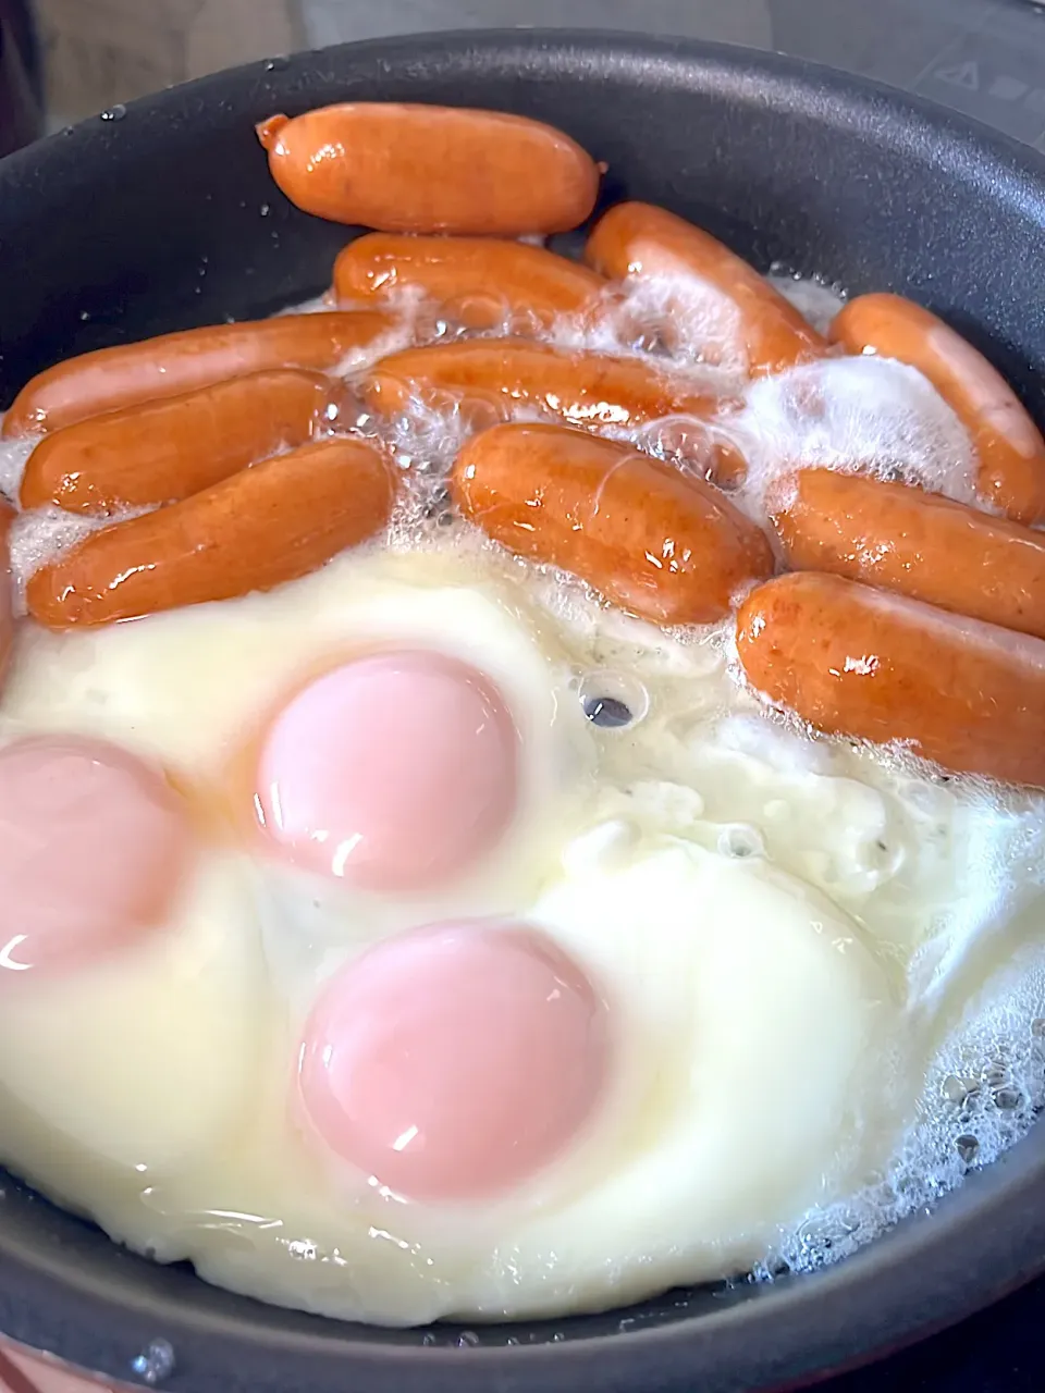
[{"label": "pink egg yolk cut off by the left edge", "polygon": [[0,749],[0,971],[78,965],[152,928],[191,855],[163,777],[78,736]]}]

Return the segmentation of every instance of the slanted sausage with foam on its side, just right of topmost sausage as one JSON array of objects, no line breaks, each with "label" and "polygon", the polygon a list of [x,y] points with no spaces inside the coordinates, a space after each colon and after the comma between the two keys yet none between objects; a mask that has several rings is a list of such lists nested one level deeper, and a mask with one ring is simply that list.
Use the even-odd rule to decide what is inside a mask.
[{"label": "slanted sausage with foam on its side, just right of topmost sausage", "polygon": [[[670,276],[712,286],[737,316],[737,337],[752,378],[783,372],[828,351],[823,337],[752,266],[663,208],[612,208],[595,224],[584,259],[613,280]],[[709,345],[708,355],[715,355],[715,347]]]}]

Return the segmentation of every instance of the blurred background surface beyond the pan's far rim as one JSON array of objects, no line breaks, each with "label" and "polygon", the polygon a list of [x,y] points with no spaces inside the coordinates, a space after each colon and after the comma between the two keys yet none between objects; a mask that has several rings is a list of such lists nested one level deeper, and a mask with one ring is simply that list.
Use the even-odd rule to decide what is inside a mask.
[{"label": "blurred background surface beyond the pan's far rim", "polygon": [[520,24],[779,49],[915,91],[1045,149],[1045,4],[1034,0],[0,0],[0,153],[40,123],[56,130],[249,59]]}]

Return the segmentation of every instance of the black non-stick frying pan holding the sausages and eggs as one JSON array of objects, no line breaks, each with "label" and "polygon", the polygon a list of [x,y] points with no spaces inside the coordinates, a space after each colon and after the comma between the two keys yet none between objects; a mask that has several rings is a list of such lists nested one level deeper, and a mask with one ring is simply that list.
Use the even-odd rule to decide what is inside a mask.
[{"label": "black non-stick frying pan holding the sausages and eggs", "polygon": [[[0,163],[0,401],[67,354],[263,315],[346,240],[290,208],[252,125],[344,99],[521,111],[765,269],[890,288],[981,347],[1045,415],[1045,163],[886,88],[743,49],[490,32],[273,59],[137,102]],[[155,1106],[142,1099],[142,1106]],[[0,1330],[113,1378],[170,1341],[171,1393],[605,1393],[796,1386],[911,1341],[1045,1269],[1045,1127],[854,1258],[521,1326],[379,1330],[219,1291],[111,1244],[11,1177]]]}]

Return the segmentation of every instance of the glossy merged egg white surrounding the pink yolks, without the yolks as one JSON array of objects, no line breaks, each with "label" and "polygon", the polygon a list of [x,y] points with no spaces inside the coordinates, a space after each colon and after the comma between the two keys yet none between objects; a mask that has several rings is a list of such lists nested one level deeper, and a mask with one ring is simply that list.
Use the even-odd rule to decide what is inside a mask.
[{"label": "glossy merged egg white surrounding the pink yolks, without the yolks", "polygon": [[[506,698],[522,787],[497,851],[439,893],[378,897],[209,848],[163,933],[0,1013],[6,1159],[135,1248],[334,1316],[564,1314],[744,1270],[888,1159],[935,1038],[910,1028],[907,965],[939,935],[947,961],[971,848],[1009,875],[1037,843],[766,717],[720,632],[665,634],[451,538],[98,632],[28,630],[0,740],[100,736],[206,790],[302,673],[397,644]],[[599,692],[633,724],[587,722]],[[301,1025],[366,946],[490,914],[539,925],[598,985],[613,1088],[518,1191],[401,1204],[305,1139]]]}]

